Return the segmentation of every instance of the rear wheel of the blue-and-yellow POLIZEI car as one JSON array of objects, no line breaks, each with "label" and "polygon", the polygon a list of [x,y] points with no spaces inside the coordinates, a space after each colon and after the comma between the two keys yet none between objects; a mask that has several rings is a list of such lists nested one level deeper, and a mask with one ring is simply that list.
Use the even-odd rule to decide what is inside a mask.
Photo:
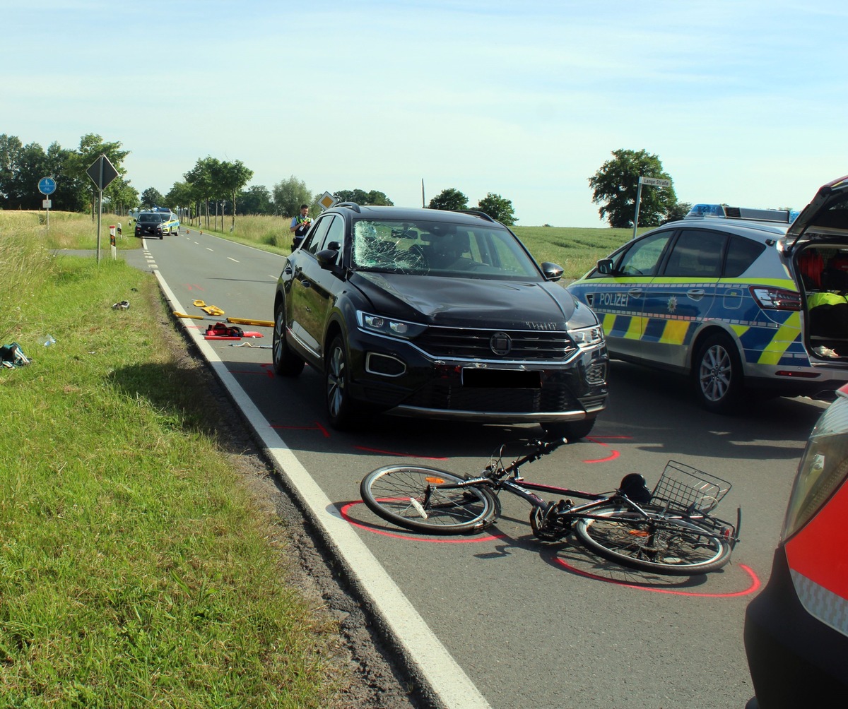
[{"label": "rear wheel of the blue-and-yellow POLIZEI car", "polygon": [[698,348],[693,368],[695,396],[714,413],[728,413],[739,403],[742,361],[728,335],[710,335]]}]

